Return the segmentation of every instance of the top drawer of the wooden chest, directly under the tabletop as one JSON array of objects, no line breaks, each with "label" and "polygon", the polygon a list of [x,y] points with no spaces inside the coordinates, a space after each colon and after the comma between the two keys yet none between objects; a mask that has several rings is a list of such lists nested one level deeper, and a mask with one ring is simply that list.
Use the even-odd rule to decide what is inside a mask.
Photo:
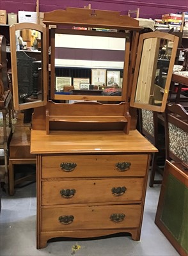
[{"label": "top drawer of the wooden chest, directly under the tabletop", "polygon": [[[69,163],[71,166],[69,170],[63,170],[63,168],[61,168],[63,164],[68,166]],[[120,163],[119,168],[116,167],[116,164],[118,163]],[[147,163],[147,154],[43,156],[42,178],[120,176],[143,177],[146,173]],[[122,167],[125,167],[125,169]]]}]

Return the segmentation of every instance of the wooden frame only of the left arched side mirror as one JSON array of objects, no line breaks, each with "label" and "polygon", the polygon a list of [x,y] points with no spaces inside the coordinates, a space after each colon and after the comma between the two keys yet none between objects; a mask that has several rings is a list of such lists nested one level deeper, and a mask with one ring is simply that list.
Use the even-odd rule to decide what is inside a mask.
[{"label": "wooden frame only of the left arched side mirror", "polygon": [[[43,99],[36,102],[19,103],[18,76],[17,76],[17,54],[15,32],[22,29],[33,29],[42,33],[42,93]],[[14,109],[20,111],[22,109],[36,108],[47,104],[47,54],[46,54],[46,31],[42,25],[34,23],[17,23],[10,26],[10,47],[11,47],[11,63],[12,63],[12,84],[13,84],[13,105]]]}]

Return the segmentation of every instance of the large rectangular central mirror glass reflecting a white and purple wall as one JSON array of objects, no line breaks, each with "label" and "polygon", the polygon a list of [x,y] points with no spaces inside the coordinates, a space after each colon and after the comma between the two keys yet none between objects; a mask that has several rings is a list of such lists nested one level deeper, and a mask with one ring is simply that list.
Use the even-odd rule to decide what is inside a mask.
[{"label": "large rectangular central mirror glass reflecting a white and purple wall", "polygon": [[121,95],[125,33],[120,37],[93,31],[91,36],[72,35],[74,31],[63,33],[63,29],[54,33],[55,77],[51,83],[55,94]]}]

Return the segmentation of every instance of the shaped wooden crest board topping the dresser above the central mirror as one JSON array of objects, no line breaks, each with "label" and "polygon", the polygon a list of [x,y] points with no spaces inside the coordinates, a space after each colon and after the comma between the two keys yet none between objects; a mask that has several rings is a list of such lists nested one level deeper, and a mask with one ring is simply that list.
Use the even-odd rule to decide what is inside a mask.
[{"label": "shaped wooden crest board topping the dresser above the central mirror", "polygon": [[121,12],[93,10],[85,8],[67,8],[44,13],[44,24],[69,24],[89,28],[118,28],[139,31],[136,19],[121,15]]}]

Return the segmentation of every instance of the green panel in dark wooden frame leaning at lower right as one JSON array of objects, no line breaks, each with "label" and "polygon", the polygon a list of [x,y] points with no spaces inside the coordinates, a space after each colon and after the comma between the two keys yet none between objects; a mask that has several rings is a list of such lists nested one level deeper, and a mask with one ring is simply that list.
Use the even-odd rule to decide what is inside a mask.
[{"label": "green panel in dark wooden frame leaning at lower right", "polygon": [[166,160],[155,224],[181,256],[188,254],[187,200],[187,170],[182,164]]}]

